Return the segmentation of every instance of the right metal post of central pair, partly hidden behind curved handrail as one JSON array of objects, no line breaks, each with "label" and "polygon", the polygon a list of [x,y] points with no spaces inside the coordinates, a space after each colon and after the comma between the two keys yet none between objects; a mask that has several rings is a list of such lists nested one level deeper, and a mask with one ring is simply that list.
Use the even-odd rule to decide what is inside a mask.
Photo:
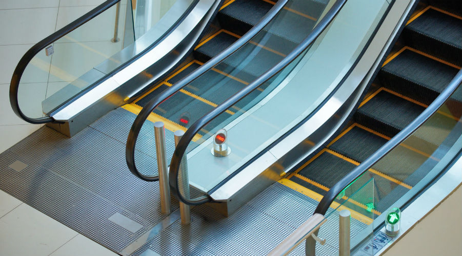
[{"label": "right metal post of central pair, partly hidden behind curved handrail", "polygon": [[[175,132],[175,147],[178,145],[179,140],[183,137],[185,132],[178,130]],[[183,197],[189,199],[189,178],[188,178],[188,163],[186,162],[186,155],[183,156],[178,170],[179,180],[179,193]],[[179,202],[179,213],[182,218],[182,224],[188,225],[191,223],[191,207],[188,204]]]}]

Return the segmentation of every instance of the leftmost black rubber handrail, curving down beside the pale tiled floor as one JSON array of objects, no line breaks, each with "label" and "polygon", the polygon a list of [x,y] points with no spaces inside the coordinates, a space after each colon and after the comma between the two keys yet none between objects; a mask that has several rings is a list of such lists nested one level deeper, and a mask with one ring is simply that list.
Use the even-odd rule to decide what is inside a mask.
[{"label": "leftmost black rubber handrail, curving down beside the pale tiled floor", "polygon": [[21,108],[19,108],[19,103],[17,99],[17,93],[19,89],[19,81],[21,81],[21,77],[26,70],[27,65],[29,65],[29,62],[32,60],[35,55],[37,55],[40,51],[48,47],[49,45],[53,44],[56,40],[59,38],[69,34],[76,28],[84,25],[87,23],[89,20],[92,18],[98,16],[99,14],[103,13],[107,9],[111,8],[115,4],[120,2],[120,0],[108,0],[104,2],[103,4],[97,6],[93,10],[89,11],[88,13],[84,14],[82,17],[79,17],[78,19],[74,20],[70,24],[66,25],[62,29],[59,29],[58,31],[54,32],[53,34],[47,36],[45,39],[37,42],[32,48],[30,48],[24,56],[19,60],[19,63],[17,64],[16,68],[14,69],[13,72],[13,77],[11,78],[10,82],[10,104],[11,108],[13,109],[13,112],[24,119],[25,121],[29,123],[34,123],[34,124],[39,124],[39,123],[50,123],[50,122],[56,122],[53,118],[50,116],[46,117],[41,117],[41,118],[29,118],[27,117],[22,111]]}]

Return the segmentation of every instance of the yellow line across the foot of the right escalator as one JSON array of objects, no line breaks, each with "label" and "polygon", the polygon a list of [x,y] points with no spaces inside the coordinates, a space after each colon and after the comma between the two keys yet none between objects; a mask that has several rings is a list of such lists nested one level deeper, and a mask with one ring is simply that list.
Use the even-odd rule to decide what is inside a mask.
[{"label": "yellow line across the foot of the right escalator", "polygon": [[[299,193],[302,193],[303,195],[305,196],[308,196],[318,202],[321,201],[321,199],[323,198],[322,195],[319,195],[318,193],[314,192],[313,190],[310,190],[296,182],[293,182],[289,179],[281,179],[278,181],[280,184],[283,184],[289,188],[292,188],[293,190],[295,191],[298,191]],[[352,199],[348,199],[347,197],[343,197],[342,199],[344,200],[348,200],[349,203],[352,203],[354,205],[357,205],[361,208],[364,208],[364,209],[368,209],[368,207],[364,204],[361,204],[355,200],[352,200]],[[370,225],[372,222],[373,222],[373,219],[372,218],[369,218],[363,214],[360,214],[359,212],[355,211],[355,210],[352,210],[344,205],[340,205],[339,203],[337,202],[332,202],[331,204],[331,208],[334,208],[336,209],[337,211],[340,211],[340,210],[344,210],[344,209],[348,209],[350,212],[351,212],[351,217],[353,217],[354,219],[360,221],[360,222],[363,222],[367,225]],[[380,215],[381,213],[379,211],[376,211],[374,209],[372,209],[372,212],[376,215]]]}]

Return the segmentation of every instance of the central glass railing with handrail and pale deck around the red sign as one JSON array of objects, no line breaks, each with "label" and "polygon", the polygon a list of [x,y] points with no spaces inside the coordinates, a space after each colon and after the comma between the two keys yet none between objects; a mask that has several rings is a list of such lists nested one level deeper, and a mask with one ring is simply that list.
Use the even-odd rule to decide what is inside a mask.
[{"label": "central glass railing with handrail and pale deck around the red sign", "polygon": [[[265,75],[189,126],[171,161],[170,184],[181,190],[175,185],[182,182],[175,181],[175,178],[186,176],[180,172],[187,169],[190,191],[202,193],[202,197],[194,201],[190,195],[179,195],[181,200],[192,198],[190,203],[206,200],[208,191],[302,122],[341,84],[373,36],[389,3],[373,1],[365,4],[364,1],[350,0],[341,10],[340,6],[342,4],[337,1],[331,7],[326,19],[323,18],[324,23],[319,22],[319,27],[314,29],[319,33],[309,36],[304,41],[307,45],[298,46],[301,51],[289,53]],[[359,10],[366,14],[359,18]],[[338,14],[332,18],[330,15],[334,15],[334,11]],[[349,24],[351,31],[345,28],[345,23]],[[324,28],[327,29],[322,32]],[[288,59],[290,61],[285,62]],[[329,66],[323,63],[329,63]],[[217,69],[234,77],[247,67],[231,69],[231,65],[223,66],[227,69],[220,65]],[[226,143],[231,150],[226,157],[215,154],[215,134],[220,129],[227,130]],[[184,154],[187,163],[185,160],[179,163]],[[180,165],[187,168],[178,168]]]}]

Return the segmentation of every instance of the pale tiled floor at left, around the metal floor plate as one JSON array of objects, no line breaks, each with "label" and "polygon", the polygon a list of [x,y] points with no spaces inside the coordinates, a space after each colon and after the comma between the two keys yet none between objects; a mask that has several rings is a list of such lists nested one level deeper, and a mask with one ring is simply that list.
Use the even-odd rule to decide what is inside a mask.
[{"label": "pale tiled floor at left, around the metal floor plate", "polygon": [[[102,2],[104,1],[0,0],[0,152],[41,127],[19,119],[11,110],[9,82],[19,59],[39,40]],[[108,35],[111,36],[110,31]],[[102,42],[99,44],[103,45]],[[107,55],[108,47],[102,49],[106,50]],[[45,56],[42,57],[46,62]],[[48,63],[50,62],[51,60]],[[43,71],[38,70],[34,73],[34,81],[46,84],[47,76],[42,79],[44,81],[37,80],[41,72]],[[58,90],[56,86],[66,84],[55,83],[49,89],[55,92]],[[44,94],[42,96],[45,97],[53,92],[45,94],[43,90],[35,90],[31,93],[31,96]],[[116,254],[0,190],[0,255]]]}]

